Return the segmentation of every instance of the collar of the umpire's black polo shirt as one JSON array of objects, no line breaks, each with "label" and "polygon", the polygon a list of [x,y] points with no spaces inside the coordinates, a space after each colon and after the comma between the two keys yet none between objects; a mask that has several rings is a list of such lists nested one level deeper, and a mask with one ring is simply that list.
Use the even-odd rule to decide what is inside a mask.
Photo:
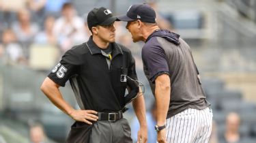
[{"label": "collar of the umpire's black polo shirt", "polygon": [[[85,44],[86,44],[87,48],[89,49],[89,51],[91,52],[91,54],[102,54],[100,48],[92,40],[92,35],[89,37],[89,40]],[[115,42],[110,43],[110,44],[113,48],[113,50],[112,50],[113,58],[115,56],[117,56],[117,54],[123,54],[123,51],[118,44],[116,44]]]}]

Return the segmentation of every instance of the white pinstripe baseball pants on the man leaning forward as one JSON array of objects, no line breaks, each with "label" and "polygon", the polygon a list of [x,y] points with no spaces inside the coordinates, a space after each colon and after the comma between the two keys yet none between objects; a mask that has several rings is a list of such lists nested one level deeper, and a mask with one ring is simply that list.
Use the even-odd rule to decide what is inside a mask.
[{"label": "white pinstripe baseball pants on the man leaning forward", "polygon": [[212,109],[188,108],[171,118],[167,118],[167,142],[205,142],[212,131]]}]

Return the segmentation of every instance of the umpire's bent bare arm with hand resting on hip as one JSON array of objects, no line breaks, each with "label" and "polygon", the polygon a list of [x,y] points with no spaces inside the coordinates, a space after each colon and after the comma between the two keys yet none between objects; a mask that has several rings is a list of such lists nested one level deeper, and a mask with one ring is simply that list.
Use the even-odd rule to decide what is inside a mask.
[{"label": "umpire's bent bare arm with hand resting on hip", "polygon": [[59,85],[53,82],[50,78],[46,78],[40,87],[42,92],[48,97],[48,99],[53,102],[57,108],[62,110],[64,113],[68,114],[75,121],[85,122],[89,125],[92,123],[90,121],[97,121],[98,116],[94,110],[75,110],[68,104],[62,97],[61,92],[59,91]]}]

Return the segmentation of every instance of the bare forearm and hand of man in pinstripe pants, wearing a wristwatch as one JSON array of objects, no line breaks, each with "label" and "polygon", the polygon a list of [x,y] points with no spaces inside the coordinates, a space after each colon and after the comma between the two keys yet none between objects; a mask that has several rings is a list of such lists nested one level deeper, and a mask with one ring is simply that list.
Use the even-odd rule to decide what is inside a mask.
[{"label": "bare forearm and hand of man in pinstripe pants, wearing a wristwatch", "polygon": [[[156,89],[156,112],[157,112],[157,121],[158,126],[165,125],[165,120],[167,118],[167,112],[169,109],[170,94],[171,94],[171,82],[169,75],[162,74],[158,76],[155,80]],[[166,129],[158,131],[158,142],[167,142],[166,138]]]}]

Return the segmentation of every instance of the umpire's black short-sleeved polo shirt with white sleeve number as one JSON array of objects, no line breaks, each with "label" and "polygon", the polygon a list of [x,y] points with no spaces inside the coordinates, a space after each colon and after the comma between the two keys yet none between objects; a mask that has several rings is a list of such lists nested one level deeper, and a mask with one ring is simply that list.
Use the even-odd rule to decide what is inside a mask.
[{"label": "umpire's black short-sleeved polo shirt with white sleeve number", "polygon": [[70,80],[76,100],[81,108],[98,112],[115,112],[124,108],[126,87],[133,85],[121,82],[121,75],[127,74],[137,80],[135,61],[130,50],[111,43],[110,66],[102,50],[93,42],[74,46],[68,50],[48,75],[55,83],[65,86]]}]

